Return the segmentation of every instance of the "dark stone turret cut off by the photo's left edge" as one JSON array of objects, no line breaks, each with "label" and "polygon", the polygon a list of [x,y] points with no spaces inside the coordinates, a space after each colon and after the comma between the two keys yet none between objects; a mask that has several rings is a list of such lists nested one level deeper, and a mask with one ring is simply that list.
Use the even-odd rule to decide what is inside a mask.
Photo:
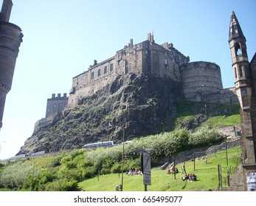
[{"label": "dark stone turret cut off by the photo's left edge", "polygon": [[18,48],[23,37],[21,28],[9,23],[12,7],[13,2],[11,0],[4,0],[0,13],[0,129],[5,99],[12,87]]}]

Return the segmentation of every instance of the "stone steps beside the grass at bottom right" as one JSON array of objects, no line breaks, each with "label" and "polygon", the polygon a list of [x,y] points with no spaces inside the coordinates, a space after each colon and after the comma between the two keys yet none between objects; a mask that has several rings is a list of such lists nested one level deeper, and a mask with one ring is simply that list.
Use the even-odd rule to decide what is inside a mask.
[{"label": "stone steps beside the grass at bottom right", "polygon": [[244,191],[243,172],[241,168],[237,174],[232,174],[229,178],[229,185],[222,188],[221,191]]}]

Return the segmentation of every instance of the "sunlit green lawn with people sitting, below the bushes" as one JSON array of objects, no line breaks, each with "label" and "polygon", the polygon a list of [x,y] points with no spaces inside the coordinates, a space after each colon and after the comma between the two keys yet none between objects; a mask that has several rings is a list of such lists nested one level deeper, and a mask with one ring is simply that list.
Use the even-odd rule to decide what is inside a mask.
[{"label": "sunlit green lawn with people sitting, below the bushes", "polygon": [[[240,160],[240,147],[228,150],[229,166],[237,166]],[[222,166],[223,177],[226,177],[226,152],[218,152],[206,156],[208,163],[204,160],[195,162],[196,170],[194,171],[194,162],[186,162],[187,173],[196,174],[198,180],[189,182],[182,181],[184,174],[174,175],[167,174],[166,170],[153,168],[151,170],[151,185],[148,185],[148,191],[209,191],[218,187],[218,164]],[[177,165],[181,169],[181,164]],[[180,171],[179,171],[180,172]],[[123,191],[144,191],[142,176],[123,175]],[[98,179],[99,178],[99,179]],[[121,174],[106,174],[100,177],[94,177],[79,183],[83,191],[114,191],[116,185],[121,184]]]}]

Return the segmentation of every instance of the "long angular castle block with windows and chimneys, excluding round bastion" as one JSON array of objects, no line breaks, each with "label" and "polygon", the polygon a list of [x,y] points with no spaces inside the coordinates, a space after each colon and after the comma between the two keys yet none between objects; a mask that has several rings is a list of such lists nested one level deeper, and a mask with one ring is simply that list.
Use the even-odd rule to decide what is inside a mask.
[{"label": "long angular castle block with windows and chimneys, excluding round bastion", "polygon": [[114,82],[118,75],[152,74],[180,81],[179,66],[189,60],[189,57],[181,54],[173,44],[165,43],[161,46],[154,43],[152,35],[148,40],[135,45],[133,40],[130,40],[128,46],[117,51],[114,57],[101,63],[94,60],[94,65],[91,65],[88,71],[73,78],[67,107],[75,107],[79,99],[90,96]]}]

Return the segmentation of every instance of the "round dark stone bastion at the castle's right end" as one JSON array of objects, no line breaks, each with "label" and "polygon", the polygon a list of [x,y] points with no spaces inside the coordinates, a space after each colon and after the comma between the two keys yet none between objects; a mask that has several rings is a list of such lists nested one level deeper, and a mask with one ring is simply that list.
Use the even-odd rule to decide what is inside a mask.
[{"label": "round dark stone bastion at the castle's right end", "polygon": [[221,68],[215,63],[192,62],[181,65],[181,85],[184,96],[190,101],[203,101],[207,93],[223,89]]}]

